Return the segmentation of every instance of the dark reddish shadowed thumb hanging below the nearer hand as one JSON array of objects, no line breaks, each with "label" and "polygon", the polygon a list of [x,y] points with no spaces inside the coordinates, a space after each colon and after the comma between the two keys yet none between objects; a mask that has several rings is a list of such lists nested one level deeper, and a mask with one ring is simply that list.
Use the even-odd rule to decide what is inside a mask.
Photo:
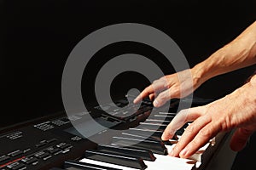
[{"label": "dark reddish shadowed thumb hanging below the nearer hand", "polygon": [[248,130],[246,128],[240,127],[236,129],[230,140],[230,148],[234,151],[242,150],[247,144],[247,140],[253,134],[253,130]]}]

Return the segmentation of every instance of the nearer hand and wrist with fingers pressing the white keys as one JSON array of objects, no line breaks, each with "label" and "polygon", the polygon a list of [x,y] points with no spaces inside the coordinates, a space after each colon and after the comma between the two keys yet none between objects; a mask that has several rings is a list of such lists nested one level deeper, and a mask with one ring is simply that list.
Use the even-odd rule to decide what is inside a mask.
[{"label": "nearer hand and wrist with fingers pressing the white keys", "polygon": [[185,122],[192,122],[173,148],[171,156],[192,156],[218,132],[237,128],[231,141],[232,150],[241,150],[256,130],[256,76],[232,94],[211,104],[180,111],[166,127],[162,139],[172,139]]}]

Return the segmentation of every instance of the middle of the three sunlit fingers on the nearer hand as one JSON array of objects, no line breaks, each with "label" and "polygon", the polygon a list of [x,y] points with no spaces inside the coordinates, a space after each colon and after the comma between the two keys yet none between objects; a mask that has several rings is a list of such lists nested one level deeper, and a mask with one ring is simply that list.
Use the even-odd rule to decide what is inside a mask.
[{"label": "middle of the three sunlit fingers on the nearer hand", "polygon": [[201,116],[196,119],[195,122],[192,122],[172,149],[170,156],[179,156],[181,150],[183,150],[185,146],[195,138],[195,135],[200,132],[201,128],[205,127],[209,122],[210,121],[206,116]]}]

